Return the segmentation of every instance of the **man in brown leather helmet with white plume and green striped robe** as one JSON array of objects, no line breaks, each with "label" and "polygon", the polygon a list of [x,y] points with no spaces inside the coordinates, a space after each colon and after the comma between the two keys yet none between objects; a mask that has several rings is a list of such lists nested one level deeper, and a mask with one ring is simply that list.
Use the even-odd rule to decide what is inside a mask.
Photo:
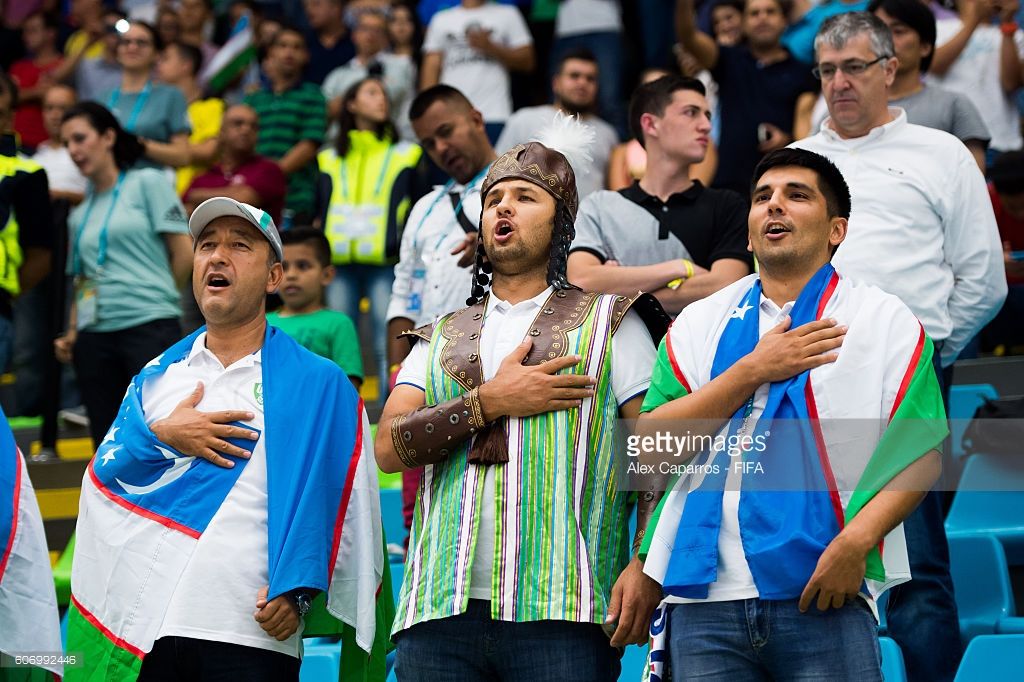
[{"label": "man in brown leather helmet with white plume and green striped robe", "polygon": [[631,553],[612,430],[639,414],[669,321],[648,295],[565,279],[581,130],[557,119],[492,166],[468,307],[409,333],[384,407],[379,466],[424,467],[392,633],[403,680],[614,680],[615,647],[646,641],[648,510]]}]

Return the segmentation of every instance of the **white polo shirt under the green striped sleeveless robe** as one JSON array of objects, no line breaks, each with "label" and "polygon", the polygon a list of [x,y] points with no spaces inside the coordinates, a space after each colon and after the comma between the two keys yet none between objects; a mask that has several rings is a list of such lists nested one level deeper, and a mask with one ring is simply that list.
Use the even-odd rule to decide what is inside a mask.
[{"label": "white polo shirt under the green striped sleeveless robe", "polygon": [[[515,305],[510,305],[497,296],[488,297],[484,325],[480,331],[480,364],[484,381],[494,379],[502,360],[526,338],[526,332],[550,294],[549,287],[534,298]],[[647,328],[639,315],[631,310],[611,337],[611,390],[620,406],[647,390],[656,353]],[[402,363],[396,383],[424,388],[427,385],[426,377],[427,343],[420,341]],[[483,485],[484,503],[480,509],[480,525],[473,552],[469,597],[489,601],[495,556],[494,467],[487,467]]]}]

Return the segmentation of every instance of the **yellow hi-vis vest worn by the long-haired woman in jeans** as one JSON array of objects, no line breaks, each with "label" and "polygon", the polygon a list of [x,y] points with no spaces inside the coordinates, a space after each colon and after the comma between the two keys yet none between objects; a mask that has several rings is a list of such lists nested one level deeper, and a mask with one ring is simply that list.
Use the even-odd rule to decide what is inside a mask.
[{"label": "yellow hi-vis vest worn by the long-haired woman in jeans", "polygon": [[344,159],[335,150],[325,150],[316,158],[332,185],[324,224],[331,259],[336,265],[384,265],[389,256],[396,255],[387,253],[389,225],[397,245],[397,230],[411,204],[408,194],[394,196],[395,180],[415,168],[423,151],[411,142],[378,139],[370,131],[354,130],[348,135]]}]

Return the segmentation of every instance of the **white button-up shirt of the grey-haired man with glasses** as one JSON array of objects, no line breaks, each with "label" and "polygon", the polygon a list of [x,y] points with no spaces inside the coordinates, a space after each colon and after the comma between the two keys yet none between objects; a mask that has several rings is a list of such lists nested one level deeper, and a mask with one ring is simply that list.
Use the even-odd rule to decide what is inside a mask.
[{"label": "white button-up shirt of the grey-haired man with glasses", "polygon": [[898,296],[951,365],[1007,296],[1002,247],[985,178],[958,139],[893,120],[843,139],[825,119],[790,146],[839,168],[853,210],[833,265],[843,275]]}]

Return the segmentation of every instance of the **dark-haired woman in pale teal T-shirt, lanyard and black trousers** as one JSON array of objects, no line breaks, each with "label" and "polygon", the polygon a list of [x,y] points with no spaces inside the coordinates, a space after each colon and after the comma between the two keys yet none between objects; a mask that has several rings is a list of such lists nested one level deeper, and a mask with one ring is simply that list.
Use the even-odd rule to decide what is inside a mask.
[{"label": "dark-haired woman in pale teal T-shirt, lanyard and black trousers", "polygon": [[135,167],[142,145],[109,111],[73,106],[60,137],[89,187],[68,219],[75,298],[54,346],[60,361],[74,363],[98,445],[128,382],[181,335],[178,290],[191,273],[191,241],[174,187],[162,172]]}]

